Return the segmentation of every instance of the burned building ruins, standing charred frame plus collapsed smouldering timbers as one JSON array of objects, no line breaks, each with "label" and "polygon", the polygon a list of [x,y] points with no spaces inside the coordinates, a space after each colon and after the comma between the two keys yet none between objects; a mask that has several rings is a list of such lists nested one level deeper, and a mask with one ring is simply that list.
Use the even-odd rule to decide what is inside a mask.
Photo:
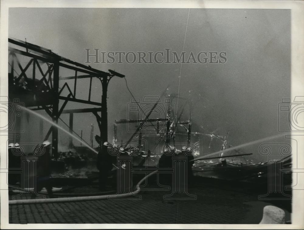
[{"label": "burned building ruins, standing charred frame plus collapsed smouldering timbers", "polygon": [[[50,129],[43,140],[48,140],[51,135],[52,160],[50,167],[52,168],[51,177],[53,184],[57,187],[62,187],[62,189],[57,189],[61,196],[64,196],[65,192],[68,195],[73,195],[71,192],[71,187],[73,186],[73,188],[88,185],[94,187],[98,178],[100,179],[96,168],[96,161],[98,161],[97,153],[101,152],[102,146],[108,141],[107,129],[102,128],[107,127],[107,85],[112,77],[117,76],[123,78],[124,75],[112,70],[109,70],[108,73],[87,67],[63,58],[49,49],[17,39],[9,38],[9,43],[9,98],[11,100],[13,98],[19,98],[19,102],[24,104],[25,110],[33,115],[36,115],[36,110],[46,111],[52,121],[50,122]],[[22,67],[20,59],[22,59],[22,62],[26,62],[27,60],[25,67]],[[17,66],[19,68],[18,72],[16,71]],[[74,76],[60,77],[59,68],[69,69],[74,71],[75,74]],[[28,73],[30,69],[31,77]],[[80,73],[85,75],[81,75]],[[78,99],[77,97],[76,85],[77,79],[79,78],[89,79],[89,95],[87,100]],[[92,78],[98,78],[101,81],[101,103],[91,101]],[[67,83],[68,81],[59,88],[60,80],[73,80],[74,90],[72,90],[73,87]],[[181,121],[185,105],[181,112],[174,111],[174,109],[172,109],[173,106],[169,105],[167,108],[161,109],[161,111],[163,111],[161,118],[151,118],[154,110],[161,105],[161,98],[169,98],[169,102],[172,102],[174,98],[176,98],[177,95],[169,94],[167,91],[168,87],[166,87],[166,90],[160,97],[156,97],[153,103],[149,102],[149,106],[147,107],[149,109],[144,108],[145,112],[140,108],[138,101],[133,98],[134,100],[132,99],[131,102],[134,107],[137,107],[135,111],[142,113],[138,116],[140,119],[128,118],[114,122],[112,144],[107,144],[107,149],[115,153],[112,154],[109,174],[107,174],[109,178],[112,178],[112,185],[116,185],[116,180],[114,179],[116,171],[121,168],[126,169],[127,167],[126,163],[119,164],[119,157],[131,158],[131,168],[136,172],[152,172],[160,168],[172,167],[172,159],[174,156],[185,155],[187,151],[188,167],[192,168],[192,171],[188,172],[202,178],[216,178],[231,182],[261,184],[269,183],[273,178],[276,178],[277,175],[282,175],[283,169],[284,172],[287,172],[288,169],[291,170],[291,153],[285,158],[254,163],[252,160],[246,158],[246,156],[252,155],[252,153],[244,153],[228,143],[229,132],[224,136],[217,135],[215,132],[202,132],[202,128],[201,130],[196,130],[197,132],[193,132],[193,102],[189,103],[189,101],[187,101],[185,103],[185,105],[190,105],[188,110],[190,113],[186,121]],[[60,108],[59,101],[63,102]],[[85,105],[97,105],[99,107],[65,109],[66,104],[70,101]],[[91,143],[88,144],[82,139],[82,136],[76,135],[73,128],[74,113],[91,112],[96,117],[101,134],[100,136],[95,136],[95,140],[99,144],[97,148],[92,147],[92,134]],[[101,116],[98,115],[98,112],[101,112]],[[180,113],[178,114],[178,112]],[[60,129],[60,127],[57,123],[58,120],[61,120],[61,114],[69,114],[70,118],[69,125],[66,124],[69,131],[63,130],[70,136],[70,150],[67,152],[58,151],[58,129]],[[20,122],[19,126],[21,126]],[[117,135],[118,126],[123,126],[123,129],[126,130],[128,129],[129,133],[133,131],[133,134],[125,143],[123,141],[117,141],[119,138]],[[40,133],[42,134],[41,129],[42,127],[40,126]],[[14,132],[14,130],[12,130],[12,132]],[[182,144],[176,141],[177,138],[180,139],[185,136],[187,137],[185,143]],[[80,140],[83,146],[74,146],[73,138]],[[15,142],[20,141],[17,138]],[[15,145],[11,147],[12,149],[17,149]],[[171,153],[168,154],[168,152]],[[20,161],[20,157],[17,161],[18,160]],[[277,165],[280,167],[277,167]],[[270,168],[271,170],[273,169],[271,174],[269,173]],[[20,168],[18,172],[23,171]],[[285,185],[291,184],[290,175],[290,173],[284,174]],[[282,179],[281,177],[279,178],[280,180]],[[17,182],[17,180],[14,182]],[[18,182],[14,185],[18,185]],[[23,191],[33,188],[33,186],[31,187],[31,185],[26,183],[23,185],[19,184],[19,187],[19,189]],[[90,191],[92,191],[92,188],[90,189]],[[16,189],[13,191],[16,192]],[[43,193],[43,190],[41,192]],[[75,194],[79,195],[79,193],[74,191],[74,195]]]}]

